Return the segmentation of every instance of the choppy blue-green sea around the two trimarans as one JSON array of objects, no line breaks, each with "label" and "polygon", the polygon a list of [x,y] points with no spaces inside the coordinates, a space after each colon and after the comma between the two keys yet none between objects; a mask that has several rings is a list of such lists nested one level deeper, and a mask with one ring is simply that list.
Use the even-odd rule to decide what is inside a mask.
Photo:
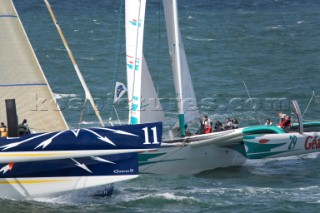
[{"label": "choppy blue-green sea around the two trimarans", "polygon": [[[1,2],[1,1],[0,1]],[[124,1],[51,0],[105,120],[115,81],[126,81]],[[71,128],[84,91],[43,1],[14,0],[44,73]],[[320,1],[179,0],[180,29],[202,113],[240,126],[277,123],[297,100],[320,119]],[[0,32],[1,33],[1,32]],[[162,3],[147,2],[144,54],[163,98],[168,129],[177,120]],[[246,89],[247,87],[247,89]],[[250,99],[249,96],[252,98]],[[79,104],[80,102],[80,104]],[[126,122],[126,104],[116,105]],[[83,126],[99,125],[88,107]],[[248,161],[193,176],[141,175],[111,197],[71,193],[36,201],[2,199],[2,212],[319,212],[318,154]]]}]

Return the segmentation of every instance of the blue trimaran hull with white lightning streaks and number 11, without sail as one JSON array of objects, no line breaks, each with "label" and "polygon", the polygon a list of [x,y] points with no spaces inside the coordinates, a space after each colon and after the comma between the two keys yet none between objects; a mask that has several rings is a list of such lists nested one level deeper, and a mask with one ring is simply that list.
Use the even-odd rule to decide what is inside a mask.
[{"label": "blue trimaran hull with white lightning streaks and number 11, without sail", "polygon": [[0,196],[37,197],[137,177],[137,152],[158,148],[161,136],[156,122],[0,138]]}]

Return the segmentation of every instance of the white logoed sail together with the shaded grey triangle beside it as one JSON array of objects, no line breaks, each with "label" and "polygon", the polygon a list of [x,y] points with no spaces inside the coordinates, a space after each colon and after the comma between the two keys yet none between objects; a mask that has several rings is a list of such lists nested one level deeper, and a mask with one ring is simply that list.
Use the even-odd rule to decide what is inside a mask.
[{"label": "white logoed sail together with the shaded grey triangle beside it", "polygon": [[129,123],[164,121],[164,113],[143,56],[145,0],[126,1]]}]

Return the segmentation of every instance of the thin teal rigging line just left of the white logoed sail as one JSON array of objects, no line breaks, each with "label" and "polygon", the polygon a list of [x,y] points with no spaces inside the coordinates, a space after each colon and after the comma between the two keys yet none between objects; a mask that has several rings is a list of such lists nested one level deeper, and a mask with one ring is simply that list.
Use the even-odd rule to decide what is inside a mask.
[{"label": "thin teal rigging line just left of the white logoed sail", "polygon": [[[121,53],[121,47],[122,47],[122,43],[123,43],[123,37],[122,32],[123,32],[123,28],[121,28],[122,26],[122,8],[123,8],[123,1],[124,0],[120,0],[120,9],[119,9],[119,21],[118,21],[118,34],[117,34],[117,49],[116,49],[116,59],[115,59],[115,65],[114,65],[114,70],[113,70],[113,89],[115,89],[116,87],[116,80],[118,79],[118,71],[119,71],[119,64],[120,64],[120,53]],[[113,93],[114,94],[114,93]],[[110,117],[112,117],[113,115],[113,110],[112,110],[112,106],[114,107],[113,104],[113,100],[114,100],[114,95],[113,95],[113,99],[109,105],[109,112],[110,112]]]}]

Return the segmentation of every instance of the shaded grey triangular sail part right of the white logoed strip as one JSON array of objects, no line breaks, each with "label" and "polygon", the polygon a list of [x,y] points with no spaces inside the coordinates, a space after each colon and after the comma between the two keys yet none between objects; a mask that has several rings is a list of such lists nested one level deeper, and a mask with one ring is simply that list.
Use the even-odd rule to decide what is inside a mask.
[{"label": "shaded grey triangular sail part right of the white logoed strip", "polygon": [[142,85],[140,123],[164,121],[164,113],[154,88],[153,81],[144,57],[142,57]]}]

